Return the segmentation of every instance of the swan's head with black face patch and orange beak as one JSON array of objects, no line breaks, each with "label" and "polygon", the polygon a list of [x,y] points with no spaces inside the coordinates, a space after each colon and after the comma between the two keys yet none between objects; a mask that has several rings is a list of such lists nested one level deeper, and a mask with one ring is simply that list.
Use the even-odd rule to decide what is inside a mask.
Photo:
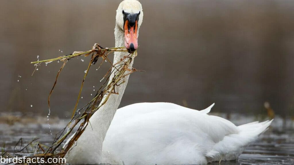
[{"label": "swan's head with black face patch and orange beak", "polygon": [[138,33],[143,20],[142,5],[137,0],[124,0],[116,10],[116,24],[124,32],[129,53],[138,48]]}]

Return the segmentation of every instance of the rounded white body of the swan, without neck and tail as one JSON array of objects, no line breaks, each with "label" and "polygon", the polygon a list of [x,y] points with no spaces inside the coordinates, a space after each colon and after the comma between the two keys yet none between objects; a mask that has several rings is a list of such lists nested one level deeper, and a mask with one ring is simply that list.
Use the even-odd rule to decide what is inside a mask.
[{"label": "rounded white body of the swan, without neck and tail", "polygon": [[248,140],[231,146],[233,155],[223,155],[230,152],[223,145],[232,143],[232,139],[238,141],[242,129],[228,120],[207,115],[210,108],[197,111],[162,102],[122,107],[117,110],[103,142],[103,151],[108,153],[104,161],[205,164],[219,156],[223,160],[236,159],[248,145]]}]

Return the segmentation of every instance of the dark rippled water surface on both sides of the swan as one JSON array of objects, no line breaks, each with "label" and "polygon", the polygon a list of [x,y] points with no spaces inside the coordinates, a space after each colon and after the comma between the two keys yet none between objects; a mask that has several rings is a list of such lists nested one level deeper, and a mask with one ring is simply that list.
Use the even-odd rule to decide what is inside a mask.
[{"label": "dark rippled water surface on both sides of the swan", "polygon": [[[219,114],[222,116],[222,114]],[[237,116],[237,115],[236,115]],[[239,119],[238,117],[242,118]],[[232,122],[239,125],[251,122],[255,117],[232,116]],[[39,121],[39,122],[36,122]],[[44,123],[45,121],[45,123]],[[40,137],[41,144],[50,145],[54,134],[66,124],[66,120],[51,119],[51,132],[45,118],[38,118],[33,123],[14,123],[14,125],[0,124],[0,145],[5,143],[5,150],[14,151],[16,142],[23,138],[24,144],[35,137]],[[285,125],[281,125],[284,123]],[[281,128],[285,127],[284,130]],[[270,129],[262,134],[252,145],[248,146],[239,160],[221,161],[223,165],[255,165],[255,164],[294,164],[294,122],[283,121],[278,118],[274,120]],[[52,135],[51,135],[52,133]],[[23,146],[24,146],[23,144]],[[34,152],[36,146],[28,147],[30,152]],[[17,151],[20,147],[16,147]],[[25,153],[24,153],[25,154]],[[218,165],[218,162],[213,162]]]}]

